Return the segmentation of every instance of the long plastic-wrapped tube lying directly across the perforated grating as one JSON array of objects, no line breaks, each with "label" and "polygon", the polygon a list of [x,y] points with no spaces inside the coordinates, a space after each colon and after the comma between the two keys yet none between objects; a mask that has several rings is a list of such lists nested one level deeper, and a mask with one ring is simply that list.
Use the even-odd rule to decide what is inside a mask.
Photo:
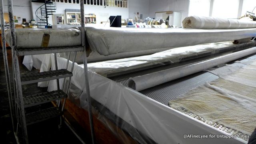
[{"label": "long plastic-wrapped tube lying directly across the perforated grating", "polygon": [[167,70],[162,70],[159,72],[153,72],[151,74],[145,74],[143,76],[136,76],[128,80],[128,87],[141,91],[159,84],[170,82],[172,80],[212,68],[214,66],[248,56],[250,54],[256,53],[256,47],[242,50],[239,52],[234,52],[232,54],[227,54],[224,56],[219,56],[209,60],[203,60],[201,62],[195,62],[192,64],[186,64],[184,66],[178,66],[176,68],[170,68]]}]

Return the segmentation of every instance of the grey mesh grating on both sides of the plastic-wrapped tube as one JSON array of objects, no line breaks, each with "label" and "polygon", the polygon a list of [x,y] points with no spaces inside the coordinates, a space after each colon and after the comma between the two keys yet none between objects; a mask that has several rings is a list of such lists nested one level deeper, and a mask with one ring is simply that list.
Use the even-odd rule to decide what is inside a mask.
[{"label": "grey mesh grating on both sides of the plastic-wrapped tube", "polygon": [[[111,80],[115,82],[120,82],[122,85],[127,86],[127,80],[131,77],[141,76],[144,74],[149,74],[159,70],[168,69],[170,66],[161,66],[158,68],[152,68],[148,70],[142,70],[139,72],[132,72],[130,74],[123,74],[120,76],[110,77]],[[179,95],[184,94],[191,90],[201,86],[205,82],[210,82],[217,79],[218,76],[211,74],[210,72],[198,72],[184,78],[173,80],[171,82],[166,82],[152,88],[140,91],[140,93],[156,100],[162,104],[168,105],[168,102],[174,98],[177,98]]]}]

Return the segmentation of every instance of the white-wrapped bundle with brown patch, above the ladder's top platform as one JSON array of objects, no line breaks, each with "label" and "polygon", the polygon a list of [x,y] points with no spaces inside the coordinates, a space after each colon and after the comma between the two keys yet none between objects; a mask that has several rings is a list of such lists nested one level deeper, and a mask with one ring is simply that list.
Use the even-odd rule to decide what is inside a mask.
[{"label": "white-wrapped bundle with brown patch, above the ladder's top platform", "polygon": [[[81,31],[78,28],[61,29],[16,29],[17,48],[46,48],[82,45]],[[10,45],[10,30],[5,32],[6,42]]]}]

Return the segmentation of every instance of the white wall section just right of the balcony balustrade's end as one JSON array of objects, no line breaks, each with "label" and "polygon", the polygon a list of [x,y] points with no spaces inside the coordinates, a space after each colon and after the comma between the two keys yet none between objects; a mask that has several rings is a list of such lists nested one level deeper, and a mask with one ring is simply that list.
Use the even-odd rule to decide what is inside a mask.
[{"label": "white wall section just right of the balcony balustrade's end", "polygon": [[140,18],[140,14],[142,14],[142,18],[146,18],[149,16],[149,0],[128,0],[128,8],[129,8],[129,18],[134,19],[137,15]]}]

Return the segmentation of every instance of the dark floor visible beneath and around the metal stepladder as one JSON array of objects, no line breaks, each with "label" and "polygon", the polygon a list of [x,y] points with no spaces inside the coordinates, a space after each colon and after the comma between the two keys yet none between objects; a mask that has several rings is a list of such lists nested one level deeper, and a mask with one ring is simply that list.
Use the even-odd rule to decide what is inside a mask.
[{"label": "dark floor visible beneath and around the metal stepladder", "polygon": [[[10,78],[12,80],[12,62],[11,50],[7,50],[8,64],[10,70]],[[20,72],[27,72],[28,70],[22,65],[22,58],[19,58]],[[33,69],[33,71],[37,71]],[[11,84],[13,87],[13,84]],[[12,88],[13,90],[13,88]],[[37,84],[28,84],[23,86],[24,96],[45,92],[47,88],[39,88]],[[51,107],[51,103],[34,106],[30,110],[40,109],[42,107]],[[50,119],[37,124],[28,126],[28,138],[30,144],[80,144],[81,142],[71,132],[71,130],[63,124],[61,130],[58,129],[60,118]],[[0,144],[16,144],[14,133],[12,130],[12,121],[10,118],[10,108],[8,101],[8,92],[6,86],[6,76],[4,70],[4,60],[2,56],[2,48],[0,48]]]}]

